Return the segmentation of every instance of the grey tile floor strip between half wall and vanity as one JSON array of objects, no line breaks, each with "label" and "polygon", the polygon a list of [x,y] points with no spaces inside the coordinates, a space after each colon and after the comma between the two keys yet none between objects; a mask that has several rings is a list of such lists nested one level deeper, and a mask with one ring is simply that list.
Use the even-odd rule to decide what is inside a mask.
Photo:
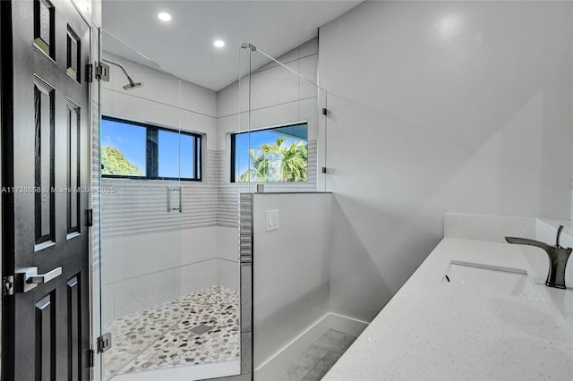
[{"label": "grey tile floor strip between half wall and vanity", "polygon": [[290,363],[274,381],[318,381],[344,354],[356,337],[330,329]]}]

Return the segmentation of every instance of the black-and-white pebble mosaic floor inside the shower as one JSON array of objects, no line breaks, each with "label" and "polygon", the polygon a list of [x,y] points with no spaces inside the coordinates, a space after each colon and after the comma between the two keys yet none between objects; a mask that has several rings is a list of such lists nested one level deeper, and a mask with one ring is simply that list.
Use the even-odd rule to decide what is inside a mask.
[{"label": "black-and-white pebble mosaic floor inside the shower", "polygon": [[104,379],[145,370],[238,360],[238,292],[212,286],[104,327]]}]

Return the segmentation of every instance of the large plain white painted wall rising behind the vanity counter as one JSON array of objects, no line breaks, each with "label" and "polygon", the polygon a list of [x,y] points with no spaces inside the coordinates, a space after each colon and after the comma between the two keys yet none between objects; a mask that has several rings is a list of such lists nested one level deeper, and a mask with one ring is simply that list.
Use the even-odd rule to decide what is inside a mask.
[{"label": "large plain white painted wall rising behind the vanity counter", "polygon": [[333,311],[372,319],[446,212],[569,218],[573,4],[365,2],[320,36]]}]

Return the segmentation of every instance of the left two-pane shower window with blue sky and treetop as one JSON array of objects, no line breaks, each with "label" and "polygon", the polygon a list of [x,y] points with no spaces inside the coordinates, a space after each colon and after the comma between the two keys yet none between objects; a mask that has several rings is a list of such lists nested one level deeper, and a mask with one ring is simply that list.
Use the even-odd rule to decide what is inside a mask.
[{"label": "left two-pane shower window with blue sky and treetop", "polygon": [[201,135],[104,116],[101,174],[135,179],[201,180]]}]

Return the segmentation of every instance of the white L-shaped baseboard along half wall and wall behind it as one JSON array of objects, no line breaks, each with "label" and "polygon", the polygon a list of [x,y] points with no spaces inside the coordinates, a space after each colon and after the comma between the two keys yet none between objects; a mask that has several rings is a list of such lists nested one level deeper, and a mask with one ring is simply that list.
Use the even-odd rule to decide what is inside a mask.
[{"label": "white L-shaped baseboard along half wall and wall behind it", "polygon": [[254,379],[269,381],[278,376],[288,364],[300,356],[312,343],[321,338],[322,334],[334,329],[345,334],[358,336],[368,326],[368,323],[355,318],[345,317],[335,313],[325,314],[311,326],[298,334],[290,343],[273,354],[269,360],[254,369]]}]

